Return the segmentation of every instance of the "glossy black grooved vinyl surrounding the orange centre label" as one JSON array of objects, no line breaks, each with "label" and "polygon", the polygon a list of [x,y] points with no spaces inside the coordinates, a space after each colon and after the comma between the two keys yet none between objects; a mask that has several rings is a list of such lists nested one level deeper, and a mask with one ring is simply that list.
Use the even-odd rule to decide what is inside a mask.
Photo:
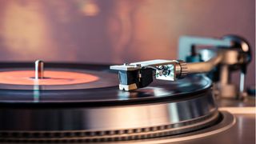
[{"label": "glossy black grooved vinyl surrounding the orange centre label", "polygon": [[[2,70],[6,69],[33,69],[33,63],[2,63]],[[130,92],[118,90],[118,74],[111,74],[108,65],[86,65],[86,64],[64,64],[46,63],[48,69],[65,69],[70,71],[85,71],[95,74],[101,78],[98,82],[103,83],[104,88],[98,88],[92,83],[82,84],[84,88],[78,89],[73,85],[74,90],[0,90],[0,106],[10,104],[43,104],[43,103],[94,103],[114,102],[142,102],[144,100],[164,100],[163,98],[181,98],[210,93],[211,81],[202,75],[190,76],[176,82],[154,80],[150,86]],[[3,84],[0,84],[0,88]],[[71,88],[70,88],[71,87]],[[95,87],[95,88],[94,88]],[[72,89],[72,85],[69,86]],[[36,98],[36,100],[35,100]],[[148,101],[147,101],[148,102]],[[16,105],[17,106],[17,105]]]}]

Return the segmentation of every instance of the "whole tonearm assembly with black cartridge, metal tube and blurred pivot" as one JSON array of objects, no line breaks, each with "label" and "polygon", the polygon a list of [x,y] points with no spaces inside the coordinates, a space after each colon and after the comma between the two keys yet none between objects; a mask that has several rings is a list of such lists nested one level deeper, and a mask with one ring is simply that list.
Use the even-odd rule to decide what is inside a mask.
[{"label": "whole tonearm assembly with black cartridge, metal tube and blurred pivot", "polygon": [[[150,85],[154,77],[175,81],[188,74],[206,74],[214,82],[218,95],[242,98],[246,67],[251,60],[250,46],[245,39],[234,35],[223,38],[183,36],[179,40],[179,58],[182,60],[150,60],[110,66],[118,70],[119,89],[135,90]],[[230,74],[240,70],[239,89],[231,82]]]}]

